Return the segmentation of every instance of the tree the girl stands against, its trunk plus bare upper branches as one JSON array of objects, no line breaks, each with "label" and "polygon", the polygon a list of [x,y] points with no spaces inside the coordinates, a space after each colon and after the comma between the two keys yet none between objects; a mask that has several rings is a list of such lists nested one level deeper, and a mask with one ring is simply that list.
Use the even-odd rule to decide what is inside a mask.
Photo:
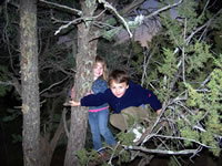
[{"label": "tree the girl stands against, its trunk plus bare upper branches", "polygon": [[[63,6],[51,3],[44,0],[41,0],[42,3],[49,4],[50,7],[54,8],[64,8]],[[118,20],[123,24],[123,27],[129,32],[130,37],[132,37],[132,33],[130,32],[129,24],[125,22],[125,20],[117,12],[117,10],[111,6],[111,3],[107,1],[98,1],[101,3],[105,10],[109,10]],[[132,1],[130,1],[132,2]],[[141,4],[143,1],[137,1],[137,3],[130,3],[128,8],[125,8],[123,11],[124,13],[128,13],[139,4]],[[181,3],[181,2],[180,2]],[[180,3],[176,3],[174,6],[178,6]],[[104,13],[104,11],[100,10],[100,8],[97,8],[95,1],[80,1],[81,4],[81,11],[77,9],[71,9],[70,11],[75,13],[75,19],[68,22],[67,24],[59,28],[59,30],[56,32],[56,34],[60,33],[61,30],[68,28],[71,24],[78,24],[78,54],[77,54],[77,74],[75,74],[75,86],[77,86],[77,97],[81,97],[83,94],[85,94],[90,90],[91,84],[91,76],[90,71],[93,65],[93,60],[97,54],[97,39],[102,34],[103,30],[108,28],[108,32],[105,33],[107,37],[115,34],[117,31],[120,30],[120,28],[111,29],[109,24],[104,24],[102,22],[98,22],[98,20],[103,21],[107,20],[107,17],[103,19],[100,19],[100,15]],[[113,3],[117,4],[117,3]],[[174,6],[169,6],[162,10],[167,10],[169,8],[172,8]],[[97,12],[95,12],[97,9]],[[160,11],[155,12],[158,14]],[[98,15],[94,15],[99,13]],[[154,15],[154,14],[152,14]],[[108,19],[110,18],[110,14],[108,14]],[[118,23],[115,21],[115,23]],[[135,22],[133,25],[138,24],[139,22]],[[98,29],[101,25],[104,29]],[[97,25],[97,27],[92,27]],[[112,25],[112,24],[111,24]],[[81,95],[80,95],[81,94]],[[79,111],[74,111],[72,108],[71,113],[71,125],[70,125],[70,133],[69,133],[69,142],[68,142],[68,149],[65,154],[65,162],[64,165],[78,165],[78,160],[74,156],[75,152],[83,147],[84,145],[84,138],[85,138],[85,131],[87,131],[87,110],[79,107]],[[79,131],[79,132],[78,132]],[[77,135],[74,132],[78,132],[79,135]]]}]

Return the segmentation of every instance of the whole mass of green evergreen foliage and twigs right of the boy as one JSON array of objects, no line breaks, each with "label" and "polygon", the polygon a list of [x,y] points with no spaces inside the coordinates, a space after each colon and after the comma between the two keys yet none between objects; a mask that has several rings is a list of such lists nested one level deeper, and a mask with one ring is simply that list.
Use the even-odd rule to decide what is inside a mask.
[{"label": "whole mass of green evergreen foliage and twigs right of the boy", "polygon": [[[142,68],[142,52],[137,54],[132,66],[141,75],[145,72],[144,85],[165,102],[163,118],[170,125],[160,133],[183,137],[171,139],[167,149],[180,149],[181,145],[182,148],[195,148],[201,143],[218,156],[221,151],[219,136],[222,136],[222,55],[216,54],[220,49],[212,53],[215,43],[205,37],[205,29],[194,33],[213,15],[203,10],[205,3],[198,4],[193,0],[185,1],[175,9],[178,18],[174,19],[170,12],[162,13],[162,30],[149,43],[147,70]],[[215,23],[215,20],[208,30],[221,29],[222,23]],[[218,44],[216,48],[221,46]]]}]

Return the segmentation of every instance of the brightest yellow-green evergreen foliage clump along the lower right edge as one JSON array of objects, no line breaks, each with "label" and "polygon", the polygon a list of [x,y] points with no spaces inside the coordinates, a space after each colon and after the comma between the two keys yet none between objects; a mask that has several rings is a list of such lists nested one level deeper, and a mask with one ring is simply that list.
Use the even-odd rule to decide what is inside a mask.
[{"label": "brightest yellow-green evergreen foliage clump along the lower right edge", "polygon": [[[196,122],[200,120],[204,120],[205,132],[201,133],[201,141],[203,144],[212,146],[211,151],[214,155],[220,154],[220,148],[218,145],[216,135],[221,135],[222,133],[222,58],[220,55],[219,59],[215,59],[216,68],[211,73],[211,80],[206,84],[208,93],[196,92],[191,85],[188,85],[189,90],[189,100],[186,101],[189,106],[195,107],[199,110],[199,114],[196,116],[192,116]],[[208,115],[208,116],[205,116]],[[184,132],[181,129],[181,132]],[[186,131],[186,133],[192,133],[191,129]],[[198,138],[196,138],[198,139]]]}]

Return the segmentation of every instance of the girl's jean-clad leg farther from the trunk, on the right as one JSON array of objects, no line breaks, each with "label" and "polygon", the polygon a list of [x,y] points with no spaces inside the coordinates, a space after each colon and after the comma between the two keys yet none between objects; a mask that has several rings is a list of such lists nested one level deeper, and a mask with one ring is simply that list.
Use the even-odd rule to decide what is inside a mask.
[{"label": "girl's jean-clad leg farther from the trunk, on the right", "polygon": [[109,127],[108,127],[108,117],[109,117],[109,110],[103,110],[98,112],[98,123],[99,123],[99,129],[100,129],[100,134],[103,136],[105,143],[108,145],[115,145],[117,142],[114,139],[114,136],[112,135],[112,133],[110,132]]}]

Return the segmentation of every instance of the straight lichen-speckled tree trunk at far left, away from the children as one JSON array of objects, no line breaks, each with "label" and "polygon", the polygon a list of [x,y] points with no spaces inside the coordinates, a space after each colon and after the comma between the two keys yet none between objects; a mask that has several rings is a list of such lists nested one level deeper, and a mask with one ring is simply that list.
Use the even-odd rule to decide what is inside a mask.
[{"label": "straight lichen-speckled tree trunk at far left, away from the children", "polygon": [[23,163],[24,166],[40,166],[37,0],[20,0],[20,51]]}]

